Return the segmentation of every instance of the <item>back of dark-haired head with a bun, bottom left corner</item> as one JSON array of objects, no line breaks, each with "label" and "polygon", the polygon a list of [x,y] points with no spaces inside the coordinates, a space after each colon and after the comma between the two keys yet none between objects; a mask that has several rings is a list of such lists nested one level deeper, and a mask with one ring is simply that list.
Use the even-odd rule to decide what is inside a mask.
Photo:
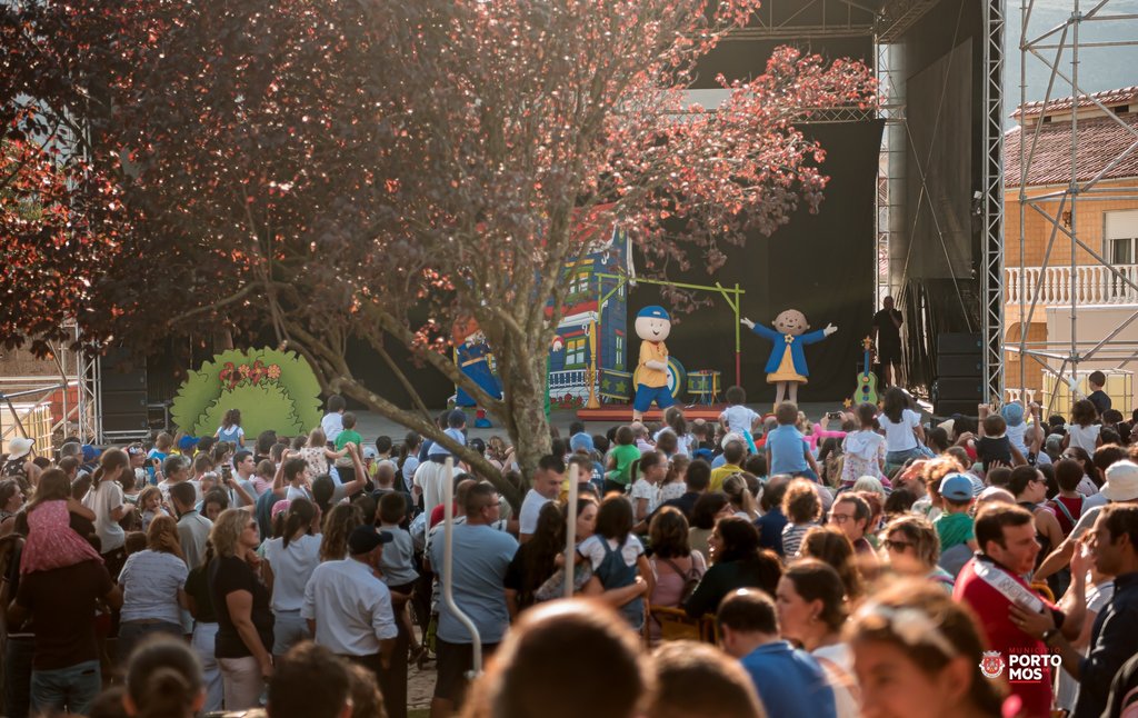
[{"label": "back of dark-haired head with a bun, bottom left corner", "polygon": [[154,638],[131,657],[123,695],[131,718],[192,718],[205,700],[201,667],[181,641]]}]

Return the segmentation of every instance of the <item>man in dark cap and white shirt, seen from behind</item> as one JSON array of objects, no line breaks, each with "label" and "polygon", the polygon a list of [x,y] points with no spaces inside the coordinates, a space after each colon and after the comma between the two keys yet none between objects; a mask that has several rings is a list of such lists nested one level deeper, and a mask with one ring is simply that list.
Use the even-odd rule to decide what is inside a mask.
[{"label": "man in dark cap and white shirt, seen from behind", "polygon": [[396,705],[390,669],[399,632],[391,594],[379,578],[384,544],[390,540],[373,526],[356,527],[348,536],[348,558],[325,561],[312,572],[300,616],[319,645],[374,672],[384,703]]}]

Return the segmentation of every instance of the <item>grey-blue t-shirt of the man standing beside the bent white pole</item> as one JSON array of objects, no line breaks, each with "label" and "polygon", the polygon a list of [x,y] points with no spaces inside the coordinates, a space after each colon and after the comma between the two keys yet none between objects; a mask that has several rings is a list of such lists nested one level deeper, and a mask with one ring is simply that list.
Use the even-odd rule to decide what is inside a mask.
[{"label": "grey-blue t-shirt of the man standing beside the bent white pole", "polygon": [[[442,530],[430,546],[431,568],[443,580]],[[454,602],[475,622],[485,643],[497,643],[510,625],[505,608],[505,570],[518,551],[513,536],[488,526],[459,523],[454,527]],[[470,632],[440,602],[436,635],[447,643],[471,643]]]}]

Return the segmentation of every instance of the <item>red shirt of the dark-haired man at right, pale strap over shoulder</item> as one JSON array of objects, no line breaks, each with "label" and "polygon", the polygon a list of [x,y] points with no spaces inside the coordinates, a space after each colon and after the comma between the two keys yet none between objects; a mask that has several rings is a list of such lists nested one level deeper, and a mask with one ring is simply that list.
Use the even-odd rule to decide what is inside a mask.
[{"label": "red shirt of the dark-haired man at right, pale strap over shoulder", "polygon": [[[993,586],[981,579],[975,573],[975,562],[976,559],[970,559],[964,568],[960,569],[960,575],[956,578],[956,586],[953,588],[953,599],[956,601],[963,601],[968,604],[968,606],[975,612],[976,618],[980,619],[981,633],[986,637],[986,645],[990,651],[999,651],[1004,658],[1004,678],[1007,679],[1007,663],[1008,654],[1011,653],[1050,653],[1047,645],[1033,636],[1023,633],[1014,624],[1008,616],[1008,610],[1012,606],[1012,602]],[[999,566],[999,564],[996,564]],[[1008,571],[1015,581],[1029,591],[1031,586],[1024,581],[1021,577]],[[1037,594],[1034,591],[1031,593]],[[1056,616],[1055,624],[1059,626],[1062,622],[1063,614],[1059,612],[1055,604],[1050,603],[1042,596],[1039,600],[1044,602],[1048,610],[1058,613]],[[970,657],[971,658],[971,657]],[[981,657],[976,655],[976,661]],[[1023,701],[1024,715],[1031,718],[1048,718],[1052,710],[1052,674],[1050,668],[1044,667],[1044,679],[1032,680],[1028,683],[1009,683],[1008,687],[1012,693],[1020,696]]]}]

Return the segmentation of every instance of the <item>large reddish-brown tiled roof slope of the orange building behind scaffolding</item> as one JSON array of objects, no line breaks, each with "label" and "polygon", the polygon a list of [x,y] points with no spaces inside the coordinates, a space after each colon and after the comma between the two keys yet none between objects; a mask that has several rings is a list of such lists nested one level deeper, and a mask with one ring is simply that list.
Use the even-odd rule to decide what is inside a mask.
[{"label": "large reddish-brown tiled roof slope of the orange building behind scaffolding", "polygon": [[[1086,181],[1114,162],[1138,140],[1119,124],[1121,119],[1138,131],[1138,114],[1127,113],[1114,117],[1088,117],[1079,121],[1079,149],[1077,179]],[[1004,176],[1007,187],[1020,185],[1020,138],[1024,129],[1015,127],[1004,135]],[[1033,123],[1026,131],[1024,151],[1031,151],[1034,139]],[[1104,180],[1138,178],[1138,150],[1103,175]],[[1071,181],[1071,123],[1055,122],[1042,126],[1028,174],[1028,185],[1065,184]]]}]

